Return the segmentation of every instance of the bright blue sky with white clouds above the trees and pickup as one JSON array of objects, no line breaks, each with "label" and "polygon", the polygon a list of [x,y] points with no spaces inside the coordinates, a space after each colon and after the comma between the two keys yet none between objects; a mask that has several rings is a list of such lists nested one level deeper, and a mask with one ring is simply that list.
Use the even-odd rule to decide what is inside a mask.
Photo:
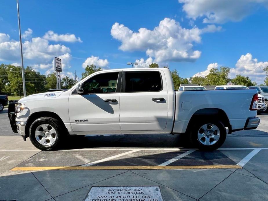
[{"label": "bright blue sky with white clouds above the trees and pickup", "polygon": [[[268,0],[20,0],[24,66],[78,77],[87,65],[103,69],[160,67],[181,77],[230,67],[264,83],[268,66]],[[0,63],[21,66],[17,1],[0,2]]]}]

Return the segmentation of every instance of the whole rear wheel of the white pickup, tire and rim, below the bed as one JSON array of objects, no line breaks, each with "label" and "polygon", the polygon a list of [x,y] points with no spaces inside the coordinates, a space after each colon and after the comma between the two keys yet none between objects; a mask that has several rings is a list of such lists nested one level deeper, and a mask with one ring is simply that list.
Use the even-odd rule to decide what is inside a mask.
[{"label": "whole rear wheel of the white pickup, tire and rim, below the bed", "polygon": [[204,151],[218,149],[226,139],[226,129],[219,120],[202,120],[190,131],[192,144]]}]

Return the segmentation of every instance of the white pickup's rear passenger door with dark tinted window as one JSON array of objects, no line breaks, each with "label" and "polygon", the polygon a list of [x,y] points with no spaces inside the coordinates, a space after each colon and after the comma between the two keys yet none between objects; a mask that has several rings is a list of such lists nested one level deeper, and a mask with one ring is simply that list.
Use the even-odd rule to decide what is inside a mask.
[{"label": "white pickup's rear passenger door with dark tinted window", "polygon": [[122,131],[158,131],[167,124],[168,95],[163,71],[122,73],[120,126]]}]

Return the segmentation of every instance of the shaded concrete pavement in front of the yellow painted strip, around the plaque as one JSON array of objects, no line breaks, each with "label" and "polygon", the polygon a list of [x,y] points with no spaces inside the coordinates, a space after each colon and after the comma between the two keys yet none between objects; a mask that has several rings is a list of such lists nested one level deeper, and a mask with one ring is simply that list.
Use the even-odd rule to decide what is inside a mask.
[{"label": "shaded concrete pavement in front of the yellow painted strip, around the plaque", "polygon": [[[268,200],[267,174],[250,173],[256,165],[245,169],[6,172],[0,177],[0,200],[84,200],[92,186],[138,185],[160,186],[166,201]],[[268,162],[263,165],[267,167]]]}]

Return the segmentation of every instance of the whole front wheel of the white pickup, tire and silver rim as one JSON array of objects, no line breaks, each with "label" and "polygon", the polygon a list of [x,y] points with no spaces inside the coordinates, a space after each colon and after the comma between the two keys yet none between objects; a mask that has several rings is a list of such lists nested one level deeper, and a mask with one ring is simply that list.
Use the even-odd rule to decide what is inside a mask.
[{"label": "whole front wheel of the white pickup, tire and silver rim", "polygon": [[40,117],[30,126],[29,138],[37,149],[55,150],[60,145],[61,132],[64,130],[59,120],[52,117]]}]

